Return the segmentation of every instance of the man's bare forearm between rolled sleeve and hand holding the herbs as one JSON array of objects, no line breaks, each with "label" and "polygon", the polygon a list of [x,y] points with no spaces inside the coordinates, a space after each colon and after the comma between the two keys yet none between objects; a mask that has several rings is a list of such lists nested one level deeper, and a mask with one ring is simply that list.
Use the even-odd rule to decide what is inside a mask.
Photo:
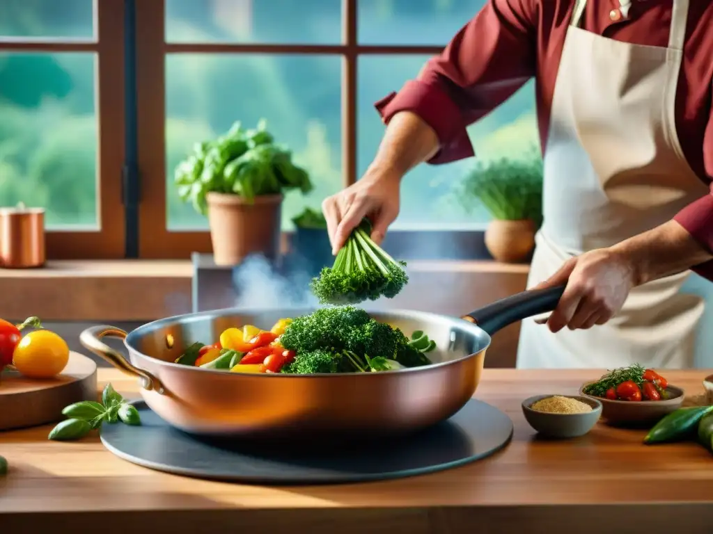
[{"label": "man's bare forearm between rolled sleeve and hand holding the herbs", "polygon": [[424,120],[410,111],[396,113],[371,167],[403,177],[406,172],[438,152],[438,136]]}]

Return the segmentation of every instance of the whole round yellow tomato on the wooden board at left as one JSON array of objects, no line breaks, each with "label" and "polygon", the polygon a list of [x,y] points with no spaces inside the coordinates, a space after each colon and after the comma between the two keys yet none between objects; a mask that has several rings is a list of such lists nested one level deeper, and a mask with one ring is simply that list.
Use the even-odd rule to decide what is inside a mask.
[{"label": "whole round yellow tomato on the wooden board at left", "polygon": [[59,375],[69,361],[65,340],[49,330],[34,330],[15,347],[12,363],[22,375],[30,378],[51,378]]}]

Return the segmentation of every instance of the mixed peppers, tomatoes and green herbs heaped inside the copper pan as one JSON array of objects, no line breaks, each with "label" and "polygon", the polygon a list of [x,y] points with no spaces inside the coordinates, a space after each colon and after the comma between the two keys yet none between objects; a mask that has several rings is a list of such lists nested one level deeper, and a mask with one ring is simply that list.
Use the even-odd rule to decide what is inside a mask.
[{"label": "mixed peppers, tomatoes and green herbs heaped inside the copper pan", "polygon": [[220,342],[196,342],[175,362],[248,373],[379,372],[429,365],[426,352],[435,348],[420,330],[409,339],[364,310],[342,306],[280,319],[270,330],[227,328]]}]

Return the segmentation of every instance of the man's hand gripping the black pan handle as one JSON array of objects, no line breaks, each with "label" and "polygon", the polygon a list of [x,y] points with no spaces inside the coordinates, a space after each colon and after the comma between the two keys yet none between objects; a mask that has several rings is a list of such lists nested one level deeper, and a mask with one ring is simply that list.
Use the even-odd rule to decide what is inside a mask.
[{"label": "man's hand gripping the black pan handle", "polygon": [[550,330],[558,332],[565,326],[575,330],[603,325],[620,312],[635,281],[636,270],[627,256],[602,248],[566,261],[536,288],[567,284],[547,322]]}]

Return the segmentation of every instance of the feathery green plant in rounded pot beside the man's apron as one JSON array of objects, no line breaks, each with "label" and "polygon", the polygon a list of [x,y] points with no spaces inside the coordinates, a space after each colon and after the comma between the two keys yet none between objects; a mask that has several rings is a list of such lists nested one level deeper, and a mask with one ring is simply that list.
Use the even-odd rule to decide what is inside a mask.
[{"label": "feathery green plant in rounded pot beside the man's apron", "polygon": [[527,259],[542,224],[542,159],[503,158],[478,164],[461,185],[466,208],[477,201],[493,216],[485,234],[491,256],[505,263]]}]

